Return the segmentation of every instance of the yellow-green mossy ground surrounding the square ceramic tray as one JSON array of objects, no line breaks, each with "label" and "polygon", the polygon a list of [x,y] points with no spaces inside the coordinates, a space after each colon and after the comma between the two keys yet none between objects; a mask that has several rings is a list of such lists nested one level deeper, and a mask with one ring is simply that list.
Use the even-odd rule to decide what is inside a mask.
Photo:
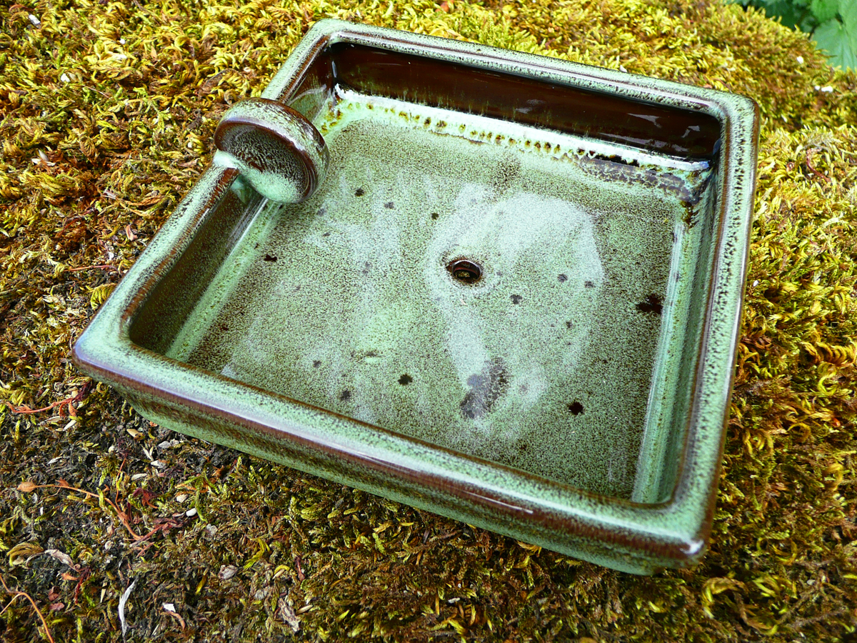
[{"label": "yellow-green mossy ground surrounding the square ceramic tray", "polygon": [[[0,574],[54,640],[123,640],[132,581],[129,641],[857,640],[857,76],[805,35],[706,0],[0,6]],[[185,439],[69,364],[223,111],[326,16],[758,101],[745,321],[698,568],[616,573]],[[19,490],[61,480],[94,496]],[[0,639],[46,640],[26,598]]]}]

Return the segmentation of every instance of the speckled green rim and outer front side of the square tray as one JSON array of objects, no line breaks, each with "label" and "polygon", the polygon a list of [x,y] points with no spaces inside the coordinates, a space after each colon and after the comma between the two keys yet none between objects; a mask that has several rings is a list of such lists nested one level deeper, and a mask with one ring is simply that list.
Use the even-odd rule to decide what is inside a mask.
[{"label": "speckled green rim and outer front side of the square tray", "polygon": [[[129,328],[136,311],[237,178],[237,171],[219,165],[217,159],[189,190],[81,335],[73,350],[75,364],[129,397],[159,400],[183,408],[191,416],[219,418],[249,434],[265,434],[273,440],[321,449],[333,460],[344,463],[346,470],[356,467],[353,475],[347,471],[337,473],[339,481],[434,513],[636,573],[697,562],[704,554],[713,520],[739,340],[752,222],[758,106],[737,94],[335,20],[320,21],[312,27],[262,97],[284,102],[290,99],[314,58],[328,45],[339,42],[619,93],[702,111],[720,120],[723,144],[713,279],[684,457],[672,497],[657,504],[642,504],[598,496],[337,416],[135,345],[129,338]],[[193,430],[182,432],[193,434]],[[228,439],[218,442],[237,446]],[[311,473],[318,471],[303,461],[278,460]],[[450,497],[454,508],[438,511],[432,502],[421,498],[421,489]],[[604,551],[592,553],[584,545]]]}]

